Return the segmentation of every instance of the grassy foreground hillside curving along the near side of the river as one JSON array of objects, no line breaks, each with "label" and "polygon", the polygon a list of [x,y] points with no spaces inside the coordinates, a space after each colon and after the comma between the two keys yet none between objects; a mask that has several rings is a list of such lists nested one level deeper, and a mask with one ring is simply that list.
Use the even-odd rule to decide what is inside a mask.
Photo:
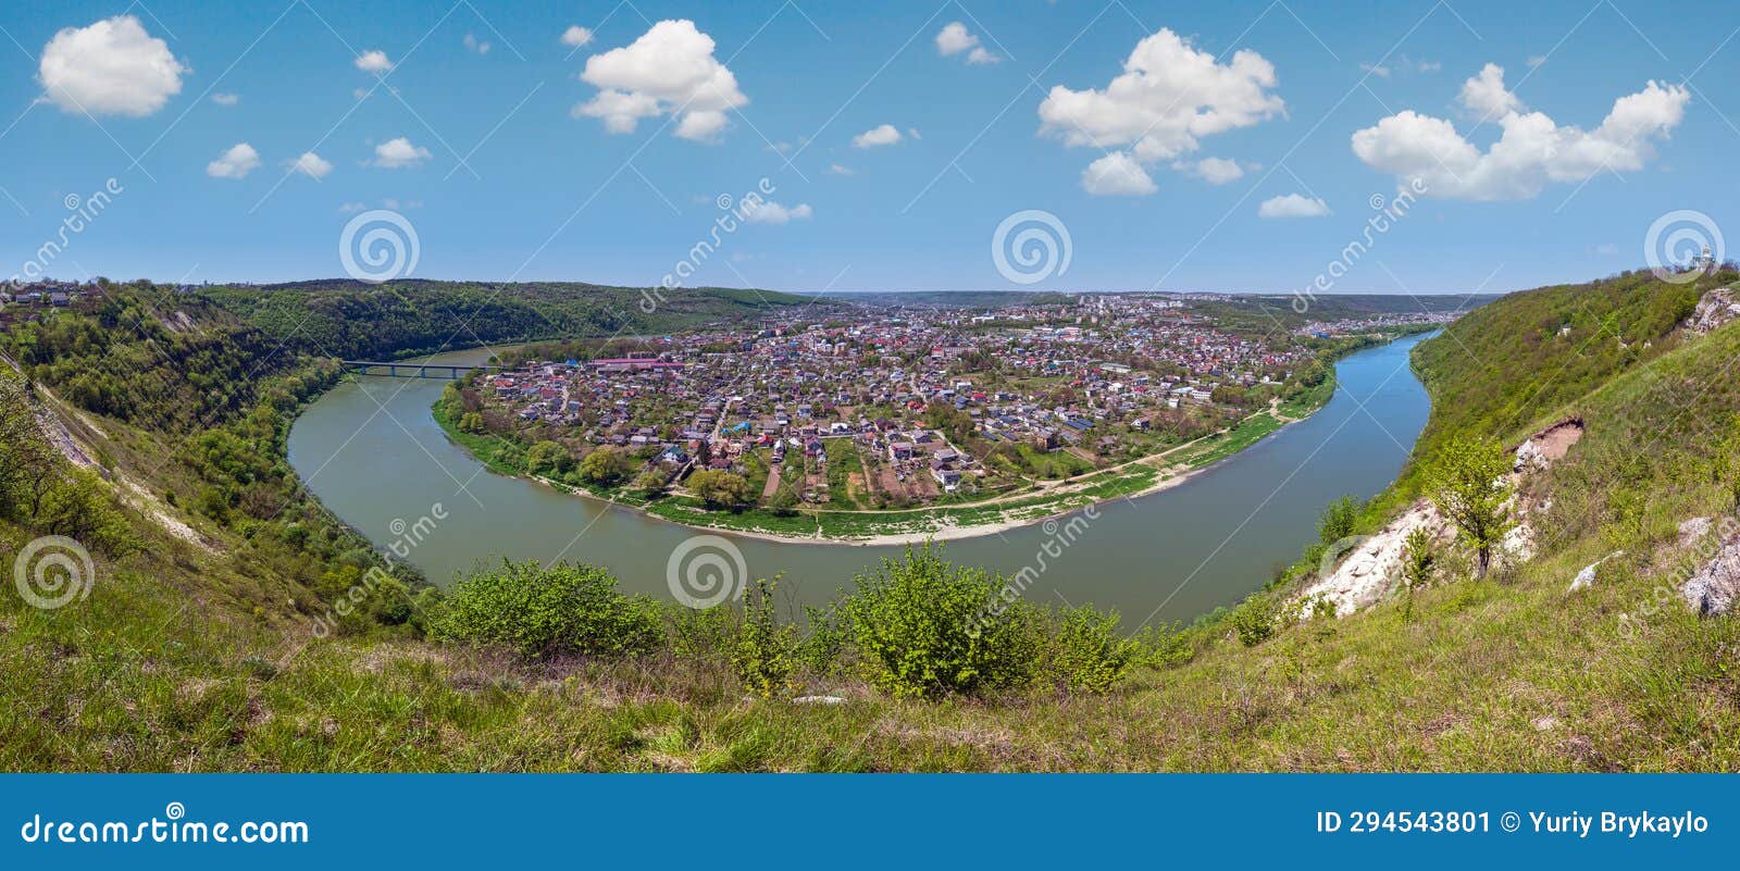
[{"label": "grassy foreground hillside curving along the near side of the river", "polygon": [[[1587,435],[1529,485],[1552,501],[1540,556],[1484,581],[1449,558],[1411,607],[1286,619],[1256,596],[1147,633],[1108,692],[1054,680],[1105,652],[1081,622],[1028,636],[1032,683],[933,699],[889,692],[861,640],[816,633],[790,687],[762,695],[745,655],[785,629],[755,614],[658,612],[659,636],[630,654],[440,642],[452,629],[421,631],[432,602],[317,638],[310,584],[332,556],[285,549],[275,522],[164,504],[216,551],[176,546],[120,506],[143,546],[99,553],[87,602],[0,596],[0,768],[1740,770],[1740,621],[1663,595],[1691,558],[1677,523],[1735,508],[1740,323],[1688,341],[1669,315],[1688,292],[1629,282],[1514,294],[1422,344],[1436,403],[1408,480],[1455,433],[1510,442],[1576,416]],[[1564,311],[1583,341],[1561,341]],[[118,468],[172,445],[94,422],[84,436]],[[191,468],[164,475],[153,492],[191,487]],[[40,522],[5,515],[0,560]],[[1566,593],[1615,549],[1594,588]],[[646,626],[640,605],[612,608]]]}]

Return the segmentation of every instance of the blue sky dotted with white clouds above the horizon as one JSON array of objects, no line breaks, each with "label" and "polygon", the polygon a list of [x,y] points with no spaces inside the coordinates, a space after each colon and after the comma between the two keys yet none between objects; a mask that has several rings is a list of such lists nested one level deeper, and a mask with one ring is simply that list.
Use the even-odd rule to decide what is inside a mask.
[{"label": "blue sky dotted with white clouds above the horizon", "polygon": [[1521,9],[10,0],[0,276],[1432,294],[1726,256],[1731,9]]}]

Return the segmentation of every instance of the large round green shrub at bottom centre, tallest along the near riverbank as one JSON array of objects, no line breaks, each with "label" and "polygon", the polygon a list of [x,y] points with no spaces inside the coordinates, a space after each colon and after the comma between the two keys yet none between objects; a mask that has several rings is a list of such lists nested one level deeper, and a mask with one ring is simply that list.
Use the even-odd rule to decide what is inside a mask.
[{"label": "large round green shrub at bottom centre, tallest along the near riverbank", "polygon": [[896,697],[983,694],[1032,682],[1032,608],[1004,605],[1000,584],[929,546],[858,575],[842,603],[865,680]]}]

